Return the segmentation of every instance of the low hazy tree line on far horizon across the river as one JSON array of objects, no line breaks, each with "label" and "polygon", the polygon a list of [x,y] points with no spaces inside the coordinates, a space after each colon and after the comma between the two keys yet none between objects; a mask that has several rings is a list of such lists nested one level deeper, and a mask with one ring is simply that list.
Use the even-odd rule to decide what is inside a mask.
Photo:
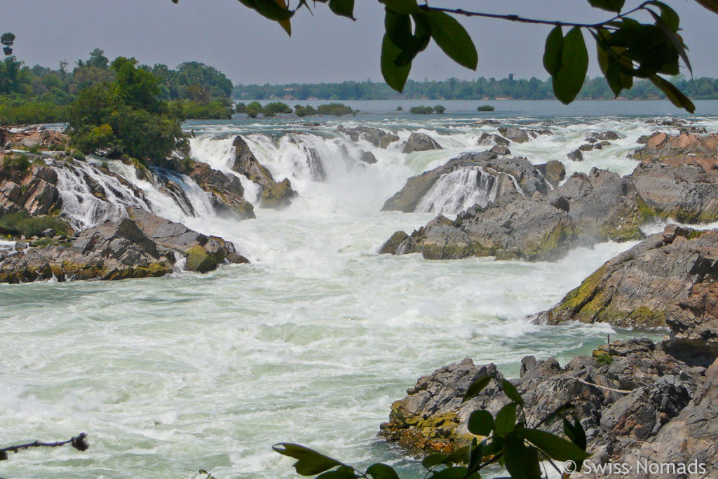
[{"label": "low hazy tree line on far horizon across the river", "polygon": [[[686,79],[682,75],[674,77],[672,83],[687,96],[696,100],[718,99],[718,79]],[[551,80],[530,80],[509,78],[477,78],[475,80],[457,80],[449,78],[443,81],[406,82],[403,93],[398,93],[383,82],[369,80],[345,81],[342,83],[289,83],[285,85],[235,85],[232,97],[238,100],[552,100],[554,96]],[[603,77],[587,78],[577,99],[608,100],[614,95]],[[658,100],[666,98],[648,80],[638,80],[630,90],[621,93],[620,98],[629,100]]]}]

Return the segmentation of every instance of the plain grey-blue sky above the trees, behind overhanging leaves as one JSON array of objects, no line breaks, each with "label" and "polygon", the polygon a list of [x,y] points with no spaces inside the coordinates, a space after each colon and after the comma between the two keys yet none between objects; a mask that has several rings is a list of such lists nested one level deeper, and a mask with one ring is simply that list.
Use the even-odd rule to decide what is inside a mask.
[{"label": "plain grey-blue sky above the trees, behind overhanging leaves", "polygon": [[[693,0],[663,0],[681,16],[684,41],[696,78],[718,77],[715,48],[718,15]],[[292,0],[292,5],[297,0]],[[626,1],[635,6],[638,1]],[[312,2],[310,1],[311,5]],[[595,22],[610,17],[584,0],[434,0],[461,7],[538,19]],[[197,60],[221,70],[233,83],[322,83],[381,80],[379,57],[383,6],[356,0],[356,22],[331,14],[326,4],[302,9],[292,19],[292,37],[236,0],[0,0],[0,30],[17,35],[14,53],[27,65],[74,65],[99,47],[111,59],[174,68]],[[541,64],[551,27],[495,19],[462,18],[479,52],[476,71],[449,60],[432,42],[419,54],[409,78],[470,80],[480,76],[548,78]],[[592,55],[589,75],[600,74]],[[688,73],[686,72],[686,76]]]}]

